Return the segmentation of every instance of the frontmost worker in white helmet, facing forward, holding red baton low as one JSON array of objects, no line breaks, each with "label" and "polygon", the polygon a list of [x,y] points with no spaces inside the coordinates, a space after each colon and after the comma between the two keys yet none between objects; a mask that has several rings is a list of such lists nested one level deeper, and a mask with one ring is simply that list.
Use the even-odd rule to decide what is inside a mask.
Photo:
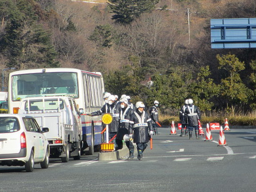
[{"label": "frontmost worker in white helmet, facing forward, holding red baton low", "polygon": [[139,101],[135,104],[136,111],[131,115],[129,123],[129,136],[137,144],[139,160],[142,160],[142,153],[147,147],[149,137],[153,135],[152,120],[148,113],[145,112],[145,105]]}]

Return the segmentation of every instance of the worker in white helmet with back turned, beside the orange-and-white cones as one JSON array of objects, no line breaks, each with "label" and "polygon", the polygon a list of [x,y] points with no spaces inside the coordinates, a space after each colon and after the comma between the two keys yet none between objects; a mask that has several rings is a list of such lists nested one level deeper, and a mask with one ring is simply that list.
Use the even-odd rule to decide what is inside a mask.
[{"label": "worker in white helmet with back turned, beside the orange-and-white cones", "polygon": [[188,106],[185,110],[185,113],[188,116],[189,139],[192,139],[192,132],[194,129],[195,129],[195,133],[196,133],[196,139],[200,139],[199,138],[198,120],[201,119],[201,113],[200,113],[199,108],[197,106],[193,105],[192,99],[188,100]]}]

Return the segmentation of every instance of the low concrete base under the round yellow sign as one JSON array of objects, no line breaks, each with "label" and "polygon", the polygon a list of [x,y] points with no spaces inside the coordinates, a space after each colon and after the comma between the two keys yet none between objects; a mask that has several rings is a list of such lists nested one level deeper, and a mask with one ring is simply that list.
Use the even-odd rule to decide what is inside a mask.
[{"label": "low concrete base under the round yellow sign", "polygon": [[112,152],[99,152],[98,154],[98,161],[115,161],[122,158],[127,158],[127,154],[129,153],[129,149],[126,147],[126,145],[123,146],[123,149],[120,149],[118,151],[112,151]]}]

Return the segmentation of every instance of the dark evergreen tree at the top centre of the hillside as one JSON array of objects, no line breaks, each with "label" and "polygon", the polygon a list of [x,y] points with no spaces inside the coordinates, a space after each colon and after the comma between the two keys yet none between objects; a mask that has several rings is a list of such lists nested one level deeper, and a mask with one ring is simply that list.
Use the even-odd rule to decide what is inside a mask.
[{"label": "dark evergreen tree at the top centre of the hillside", "polygon": [[142,13],[151,12],[159,0],[109,0],[109,7],[114,13],[112,19],[128,24]]}]

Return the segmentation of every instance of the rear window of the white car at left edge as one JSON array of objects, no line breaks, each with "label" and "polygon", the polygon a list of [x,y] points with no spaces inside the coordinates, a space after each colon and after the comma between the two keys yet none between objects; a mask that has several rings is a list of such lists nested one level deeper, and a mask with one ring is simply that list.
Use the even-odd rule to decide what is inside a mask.
[{"label": "rear window of the white car at left edge", "polygon": [[16,117],[0,117],[0,133],[11,133],[20,130]]}]

